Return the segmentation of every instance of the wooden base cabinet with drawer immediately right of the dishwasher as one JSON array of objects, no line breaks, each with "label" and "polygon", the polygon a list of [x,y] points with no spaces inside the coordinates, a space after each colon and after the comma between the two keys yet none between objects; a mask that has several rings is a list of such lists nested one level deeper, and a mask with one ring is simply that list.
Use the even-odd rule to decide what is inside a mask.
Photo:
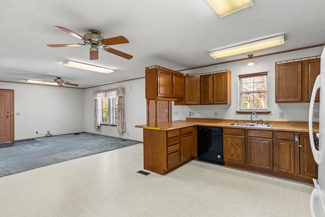
[{"label": "wooden base cabinet with drawer immediately right of the dishwasher", "polygon": [[223,128],[223,161],[244,165],[245,160],[245,130]]}]

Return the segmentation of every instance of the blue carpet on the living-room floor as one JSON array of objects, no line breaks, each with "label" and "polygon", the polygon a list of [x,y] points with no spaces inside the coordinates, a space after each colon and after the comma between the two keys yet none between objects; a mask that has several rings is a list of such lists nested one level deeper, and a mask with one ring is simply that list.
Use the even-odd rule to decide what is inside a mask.
[{"label": "blue carpet on the living-room floor", "polygon": [[37,138],[28,144],[0,148],[0,177],[138,143],[90,133]]}]

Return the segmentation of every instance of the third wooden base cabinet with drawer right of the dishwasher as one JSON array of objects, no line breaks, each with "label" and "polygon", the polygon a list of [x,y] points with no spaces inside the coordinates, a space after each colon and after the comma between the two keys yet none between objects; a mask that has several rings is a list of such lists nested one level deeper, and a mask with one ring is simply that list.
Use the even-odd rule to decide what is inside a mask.
[{"label": "third wooden base cabinet with drawer right of the dishwasher", "polygon": [[276,171],[295,173],[295,133],[276,132]]}]

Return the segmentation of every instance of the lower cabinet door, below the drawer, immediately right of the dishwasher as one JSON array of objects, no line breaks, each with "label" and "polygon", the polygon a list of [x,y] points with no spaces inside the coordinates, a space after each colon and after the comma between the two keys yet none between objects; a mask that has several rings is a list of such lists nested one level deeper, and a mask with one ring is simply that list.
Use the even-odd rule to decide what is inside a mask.
[{"label": "lower cabinet door, below the drawer, immediately right of the dishwasher", "polygon": [[245,137],[223,136],[223,160],[234,164],[245,164]]}]

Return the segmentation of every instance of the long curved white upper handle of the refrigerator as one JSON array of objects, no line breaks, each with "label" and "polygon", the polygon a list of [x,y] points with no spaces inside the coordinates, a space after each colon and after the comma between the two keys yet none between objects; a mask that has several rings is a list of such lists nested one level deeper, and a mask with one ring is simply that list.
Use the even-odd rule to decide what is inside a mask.
[{"label": "long curved white upper handle of the refrigerator", "polygon": [[316,150],[315,144],[314,144],[314,136],[313,136],[313,111],[314,111],[314,104],[315,104],[315,98],[316,98],[316,92],[320,88],[320,75],[317,76],[315,80],[315,84],[313,87],[313,91],[311,92],[311,99],[310,99],[310,105],[309,105],[309,117],[308,117],[308,130],[309,130],[309,140],[310,140],[310,146],[313,153],[314,160],[317,164],[319,164],[319,151]]}]

